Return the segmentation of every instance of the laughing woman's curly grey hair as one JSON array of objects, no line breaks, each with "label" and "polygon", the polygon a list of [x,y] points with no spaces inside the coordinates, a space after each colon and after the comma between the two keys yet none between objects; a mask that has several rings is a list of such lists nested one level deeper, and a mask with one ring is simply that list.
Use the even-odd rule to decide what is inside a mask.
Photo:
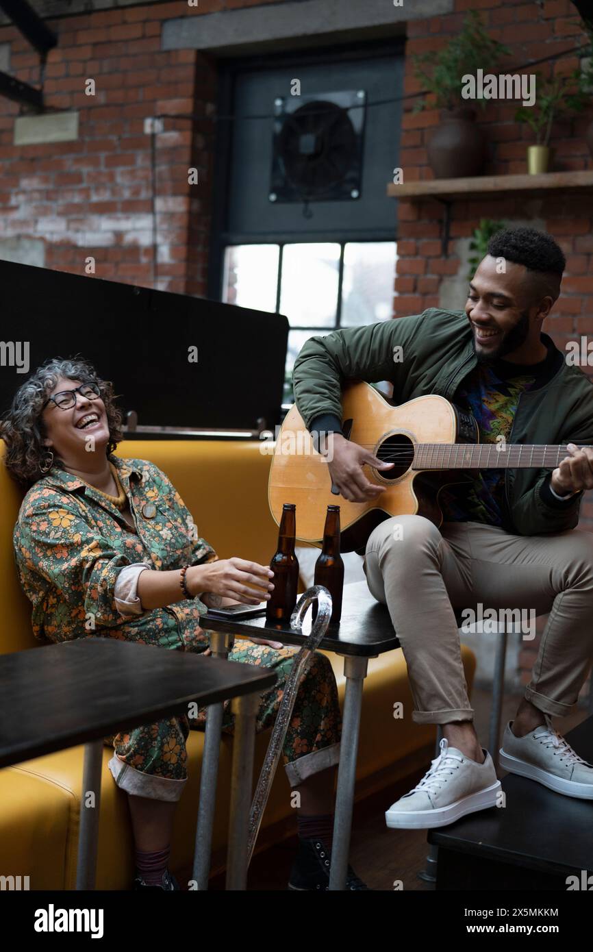
[{"label": "laughing woman's curly grey hair", "polygon": [[[43,443],[48,434],[41,412],[60,377],[99,386],[109,425],[108,456],[124,438],[122,414],[115,406],[111,382],[102,380],[89,361],[77,357],[53,357],[37,367],[18,388],[10,410],[0,422],[0,436],[6,444],[4,464],[20,486],[29,488],[45,475],[39,467],[48,454],[48,447]],[[55,454],[53,466],[62,466],[62,461]]]}]

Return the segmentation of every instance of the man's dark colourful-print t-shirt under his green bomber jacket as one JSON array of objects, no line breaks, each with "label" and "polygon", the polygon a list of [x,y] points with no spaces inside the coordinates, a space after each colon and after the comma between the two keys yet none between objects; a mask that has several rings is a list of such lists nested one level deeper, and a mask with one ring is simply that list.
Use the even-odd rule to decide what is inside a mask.
[{"label": "man's dark colourful-print t-shirt under his green bomber jacket", "polygon": [[[455,391],[453,403],[475,418],[480,443],[509,441],[513,419],[522,393],[542,387],[555,373],[559,355],[549,347],[539,364],[519,365],[502,359],[483,361],[474,367]],[[481,469],[471,482],[446,486],[439,503],[445,522],[476,522],[503,525],[504,469]]]}]

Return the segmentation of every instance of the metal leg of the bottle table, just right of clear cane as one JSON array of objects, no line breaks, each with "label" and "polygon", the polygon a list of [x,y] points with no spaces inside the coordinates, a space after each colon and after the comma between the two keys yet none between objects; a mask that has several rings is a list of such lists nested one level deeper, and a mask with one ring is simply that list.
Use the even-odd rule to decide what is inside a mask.
[{"label": "metal leg of the bottle table, just right of clear cane", "polygon": [[333,823],[333,844],[329,868],[329,889],[346,889],[350,829],[356,782],[356,758],[363,706],[363,686],[368,666],[367,658],[344,656],[346,696],[342,715],[342,741],[338,766],[336,811]]}]

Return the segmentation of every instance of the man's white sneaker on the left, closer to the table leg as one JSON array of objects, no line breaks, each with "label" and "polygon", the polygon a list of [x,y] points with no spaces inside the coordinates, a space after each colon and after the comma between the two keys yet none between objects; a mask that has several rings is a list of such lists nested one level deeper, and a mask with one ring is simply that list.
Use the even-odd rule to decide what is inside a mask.
[{"label": "man's white sneaker on the left, closer to the table leg", "polygon": [[478,764],[445,738],[440,747],[421,782],[385,811],[391,829],[434,829],[496,806],[501,782],[488,751],[482,748],[485,760]]}]

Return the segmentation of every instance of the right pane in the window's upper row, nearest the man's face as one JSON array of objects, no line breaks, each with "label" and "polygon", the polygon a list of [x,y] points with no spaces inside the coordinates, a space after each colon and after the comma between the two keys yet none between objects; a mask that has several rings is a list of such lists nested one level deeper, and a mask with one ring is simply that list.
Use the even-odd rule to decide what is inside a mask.
[{"label": "right pane in the window's upper row, nearest the man's face", "polygon": [[342,327],[385,321],[393,313],[393,241],[348,242],[344,248]]}]

